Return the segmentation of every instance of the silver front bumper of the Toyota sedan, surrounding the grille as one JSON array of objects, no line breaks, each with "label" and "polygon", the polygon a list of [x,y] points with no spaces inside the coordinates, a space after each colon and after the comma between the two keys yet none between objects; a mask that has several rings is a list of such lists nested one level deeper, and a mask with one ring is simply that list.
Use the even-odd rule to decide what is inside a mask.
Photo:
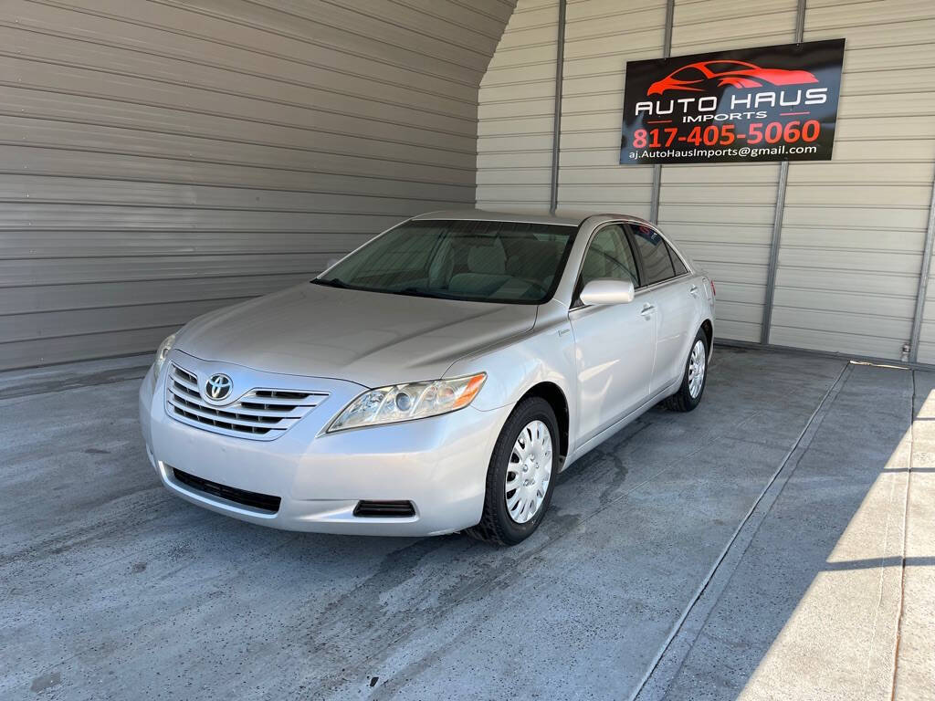
[{"label": "silver front bumper of the Toyota sedan, surrounding the grille", "polygon": [[[199,378],[231,370],[173,350]],[[243,367],[255,386],[293,386],[293,376]],[[243,521],[295,531],[373,536],[433,536],[481,519],[487,466],[510,408],[468,407],[413,422],[324,434],[324,427],[360,385],[312,381],[328,397],[275,440],[224,436],[179,422],[165,408],[165,367],[152,387],[152,369],[139,390],[139,414],[152,466],[165,487],[198,506]],[[290,384],[292,383],[292,384]],[[175,479],[173,468],[236,490],[280,498],[275,512],[252,508]],[[361,500],[412,502],[408,517],[358,517]]]}]

